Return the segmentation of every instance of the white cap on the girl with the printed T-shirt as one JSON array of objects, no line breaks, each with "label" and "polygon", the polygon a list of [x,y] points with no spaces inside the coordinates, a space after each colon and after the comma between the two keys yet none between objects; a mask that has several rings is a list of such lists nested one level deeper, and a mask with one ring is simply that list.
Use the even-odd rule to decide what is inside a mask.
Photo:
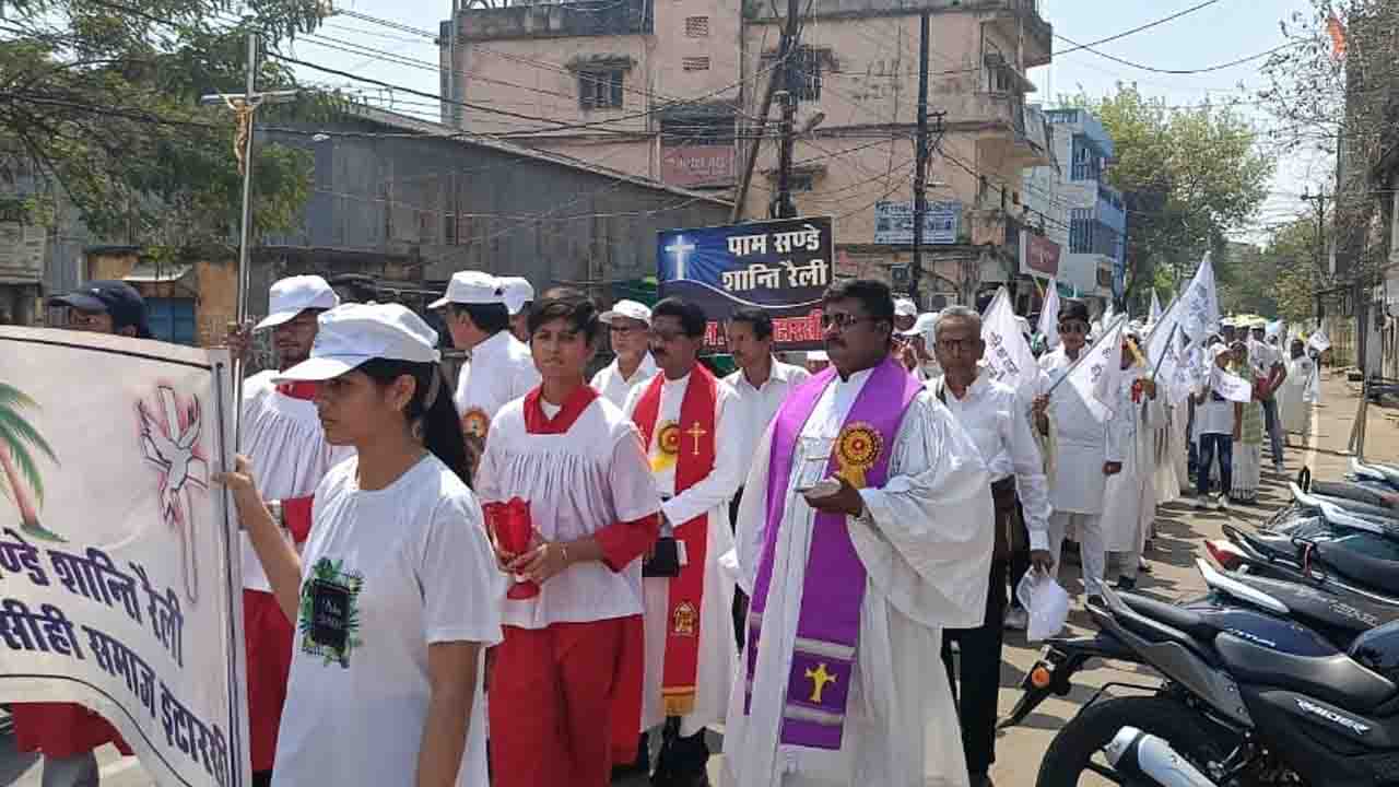
[{"label": "white cap on the girl with the printed T-shirt", "polygon": [[277,375],[276,382],[319,382],[365,361],[438,363],[436,330],[400,304],[346,304],[319,318],[311,357]]}]

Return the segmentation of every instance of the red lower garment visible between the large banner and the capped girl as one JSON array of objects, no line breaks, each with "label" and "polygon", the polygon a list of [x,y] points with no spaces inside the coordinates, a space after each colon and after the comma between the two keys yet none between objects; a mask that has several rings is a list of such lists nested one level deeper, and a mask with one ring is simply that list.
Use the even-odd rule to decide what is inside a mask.
[{"label": "red lower garment visible between the large banner and the capped girl", "polygon": [[277,597],[243,590],[243,639],[248,643],[248,731],[253,772],[271,770],[277,728],[291,675],[292,625]]}]

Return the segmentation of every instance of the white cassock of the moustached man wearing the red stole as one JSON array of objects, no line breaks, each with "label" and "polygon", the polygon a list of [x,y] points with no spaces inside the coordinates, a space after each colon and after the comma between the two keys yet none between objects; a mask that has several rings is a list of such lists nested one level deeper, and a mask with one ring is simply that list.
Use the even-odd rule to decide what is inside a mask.
[{"label": "white cassock of the moustached man wearing the red stole", "polygon": [[[662,372],[663,374],[663,372]],[[680,423],[680,403],[686,396],[690,377],[667,379],[660,386],[660,406],[656,409],[656,429],[652,430],[646,455],[655,458],[660,452],[660,426]],[[634,417],[637,403],[646,392],[646,385],[637,385],[627,398],[627,417]],[[694,713],[680,717],[680,734],[694,735],[700,730],[723,721],[729,702],[729,683],[733,681],[733,662],[739,643],[733,636],[733,580],[719,569],[719,560],[733,549],[733,528],[729,525],[729,500],[739,490],[740,468],[743,466],[741,445],[732,430],[736,424],[725,417],[725,409],[736,395],[727,384],[715,381],[715,457],[713,471],[704,480],[676,494],[676,465],[655,472],[656,489],[663,503],[662,514],[670,522],[683,522],[709,515],[709,531],[705,541],[704,602],[700,605],[700,664],[695,671]],[[687,437],[681,434],[681,451]],[[672,497],[673,496],[673,497]],[[646,577],[642,580],[645,595],[646,626],[646,669],[641,695],[641,731],[658,727],[666,720],[660,688],[666,665],[666,623],[669,622],[670,580]]]}]

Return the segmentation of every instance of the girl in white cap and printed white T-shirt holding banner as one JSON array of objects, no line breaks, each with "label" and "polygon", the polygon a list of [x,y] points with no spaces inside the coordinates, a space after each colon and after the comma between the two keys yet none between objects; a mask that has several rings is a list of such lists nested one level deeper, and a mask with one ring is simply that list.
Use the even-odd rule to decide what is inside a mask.
[{"label": "girl in white cap and printed white T-shirt holding banner", "polygon": [[485,784],[481,651],[501,640],[505,588],[436,332],[397,304],[319,322],[311,358],[280,381],[318,382],[326,441],[357,457],[316,490],[304,553],[246,458],[218,476],[297,620],[273,786]]}]

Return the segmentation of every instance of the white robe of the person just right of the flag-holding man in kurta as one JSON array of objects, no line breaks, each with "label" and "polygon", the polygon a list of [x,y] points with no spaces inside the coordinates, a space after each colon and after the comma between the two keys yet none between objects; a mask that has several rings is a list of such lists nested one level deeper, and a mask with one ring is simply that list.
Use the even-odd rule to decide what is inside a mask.
[{"label": "white robe of the person just right of the flag-holding man in kurta", "polygon": [[1102,499],[1104,546],[1108,552],[1137,552],[1156,517],[1156,431],[1165,426],[1160,395],[1151,401],[1132,401],[1132,384],[1142,372],[1133,367],[1122,379],[1118,406],[1108,429],[1116,431],[1122,447],[1122,472],[1108,476]]}]

